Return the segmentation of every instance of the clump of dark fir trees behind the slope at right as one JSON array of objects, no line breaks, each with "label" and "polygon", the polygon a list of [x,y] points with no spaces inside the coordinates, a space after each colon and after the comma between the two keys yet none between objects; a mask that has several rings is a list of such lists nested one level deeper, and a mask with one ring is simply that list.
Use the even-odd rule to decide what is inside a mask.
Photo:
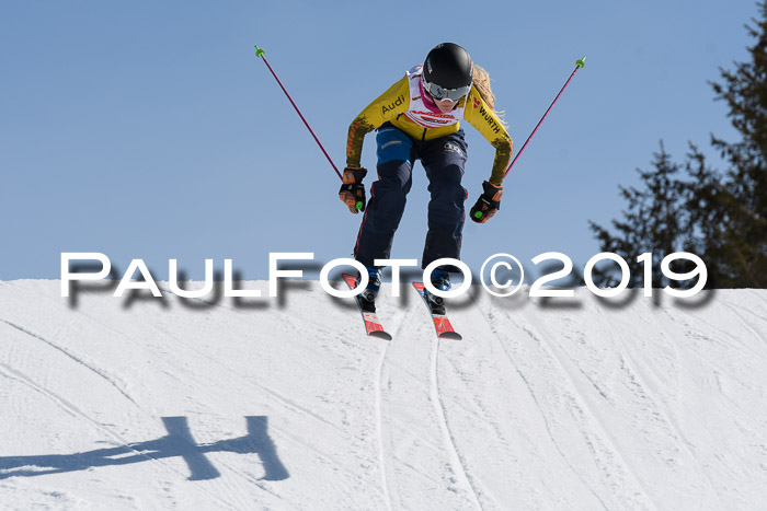
[{"label": "clump of dark fir trees behind the slope at right", "polygon": [[[707,287],[767,286],[767,2],[758,8],[762,20],[746,26],[757,40],[748,48],[751,61],[735,62],[733,71],[720,68],[723,83],[711,83],[716,100],[726,102],[728,117],[742,137],[736,142],[711,137],[728,164],[725,172],[709,167],[694,144],[685,164],[675,164],[661,143],[655,170],[640,171],[646,188],[620,187],[629,207],[621,221],[613,221],[617,234],[589,222],[602,249],[629,263],[633,284],[643,281],[638,255],[653,253],[653,284],[662,286],[660,262],[684,251],[703,258]],[[684,272],[686,266],[692,265],[678,262],[672,268]],[[597,277],[603,284],[616,282],[611,272]]]}]

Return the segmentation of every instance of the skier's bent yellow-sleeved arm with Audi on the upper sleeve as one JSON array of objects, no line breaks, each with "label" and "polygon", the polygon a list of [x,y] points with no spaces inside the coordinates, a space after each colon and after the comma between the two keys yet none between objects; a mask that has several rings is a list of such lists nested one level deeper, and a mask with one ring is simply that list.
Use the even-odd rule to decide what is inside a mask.
[{"label": "skier's bent yellow-sleeved arm with Audi on the upper sleeve", "polygon": [[346,137],[347,167],[359,169],[365,135],[403,113],[409,103],[408,77],[403,77],[355,117],[348,127],[348,136]]}]

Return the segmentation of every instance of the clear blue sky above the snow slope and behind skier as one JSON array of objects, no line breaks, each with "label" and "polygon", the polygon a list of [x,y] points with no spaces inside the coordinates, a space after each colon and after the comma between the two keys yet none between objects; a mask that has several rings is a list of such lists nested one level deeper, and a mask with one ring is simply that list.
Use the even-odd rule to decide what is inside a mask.
[{"label": "clear blue sky above the snow slope and behind skier", "polygon": [[[708,80],[747,58],[751,1],[5,1],[0,7],[0,279],[58,278],[61,252],[125,270],[204,259],[267,277],[270,252],[352,252],[359,217],[278,89],[266,57],[339,167],[348,124],[438,43],[494,79],[516,148],[587,56],[505,182],[499,216],[468,221],[476,270],[507,252],[582,267],[659,141],[735,136]],[[493,149],[467,127],[467,208]],[[363,164],[375,170],[375,140]],[[373,173],[375,174],[375,172]],[[367,185],[371,183],[368,177]],[[393,257],[420,258],[426,179],[416,165]]]}]

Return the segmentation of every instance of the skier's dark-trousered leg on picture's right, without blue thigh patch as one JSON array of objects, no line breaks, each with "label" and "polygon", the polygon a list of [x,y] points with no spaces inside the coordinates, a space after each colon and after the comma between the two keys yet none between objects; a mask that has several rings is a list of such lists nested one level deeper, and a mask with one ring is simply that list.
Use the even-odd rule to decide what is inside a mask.
[{"label": "skier's dark-trousered leg on picture's right, without blue thigh patch", "polygon": [[[423,251],[422,267],[430,263],[450,257],[460,259],[466,213],[463,202],[468,193],[461,186],[467,160],[467,143],[463,131],[427,142],[421,150],[421,161],[428,178],[428,233]],[[458,271],[455,266],[440,267],[447,271]]]}]

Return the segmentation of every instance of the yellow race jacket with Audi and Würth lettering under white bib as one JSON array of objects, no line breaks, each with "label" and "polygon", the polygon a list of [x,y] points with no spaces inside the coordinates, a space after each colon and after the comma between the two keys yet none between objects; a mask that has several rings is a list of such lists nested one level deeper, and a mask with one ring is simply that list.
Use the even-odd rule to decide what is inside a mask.
[{"label": "yellow race jacket with Audi and W\u00fcrth lettering under white bib", "polygon": [[[410,83],[405,74],[359,113],[348,127],[346,166],[359,166],[365,135],[387,121],[416,140],[433,140],[458,131],[460,128],[459,123],[434,128],[425,128],[415,124],[405,115],[410,108]],[[494,185],[500,185],[512,158],[514,148],[512,137],[492,108],[484,102],[476,86],[471,86],[469,95],[460,100],[457,108],[463,108],[463,119],[477,128],[495,148],[493,170],[488,181]]]}]

